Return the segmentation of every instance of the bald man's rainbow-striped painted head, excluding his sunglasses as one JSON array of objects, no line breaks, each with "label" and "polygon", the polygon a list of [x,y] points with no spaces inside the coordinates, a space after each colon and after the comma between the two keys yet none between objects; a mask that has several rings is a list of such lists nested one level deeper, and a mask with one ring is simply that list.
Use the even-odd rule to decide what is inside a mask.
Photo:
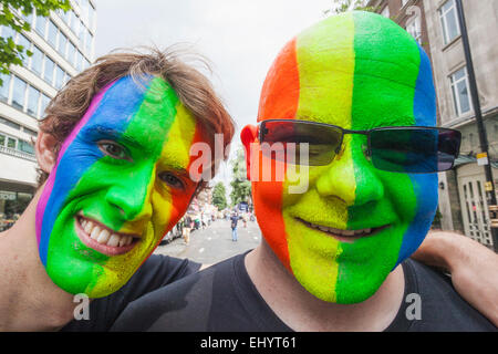
[{"label": "bald man's rainbow-striped painted head, excluding his sunglasses", "polygon": [[[429,60],[388,19],[362,11],[330,17],[292,39],[273,62],[258,121],[276,118],[355,131],[434,126]],[[258,128],[247,126],[241,138],[247,148],[258,146]],[[289,192],[288,174],[283,181],[252,181],[266,242],[310,293],[328,302],[374,294],[422,243],[437,206],[436,174],[376,169],[363,152],[365,139],[345,135],[334,160],[309,166],[302,194]],[[284,163],[259,154],[258,164],[278,169]]]}]

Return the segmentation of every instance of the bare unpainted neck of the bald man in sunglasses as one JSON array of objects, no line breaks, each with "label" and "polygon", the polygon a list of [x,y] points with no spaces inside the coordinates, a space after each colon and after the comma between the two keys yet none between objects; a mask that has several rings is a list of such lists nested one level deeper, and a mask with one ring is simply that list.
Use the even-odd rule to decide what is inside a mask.
[{"label": "bare unpainted neck of the bald man in sunglasses", "polygon": [[385,330],[397,314],[404,274],[397,267],[367,300],[355,304],[322,301],[309,293],[264,241],[246,257],[246,268],[261,296],[289,327],[299,332]]}]

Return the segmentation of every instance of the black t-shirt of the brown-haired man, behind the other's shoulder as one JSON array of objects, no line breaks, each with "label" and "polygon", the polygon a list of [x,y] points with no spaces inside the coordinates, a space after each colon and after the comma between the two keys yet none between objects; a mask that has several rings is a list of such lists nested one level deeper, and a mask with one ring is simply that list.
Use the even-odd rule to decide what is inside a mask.
[{"label": "black t-shirt of the brown-haired man, behind the other's shoulder", "polygon": [[108,331],[126,305],[139,296],[199,270],[200,263],[168,256],[153,254],[115,293],[90,302],[90,319],[73,320],[61,331]]}]

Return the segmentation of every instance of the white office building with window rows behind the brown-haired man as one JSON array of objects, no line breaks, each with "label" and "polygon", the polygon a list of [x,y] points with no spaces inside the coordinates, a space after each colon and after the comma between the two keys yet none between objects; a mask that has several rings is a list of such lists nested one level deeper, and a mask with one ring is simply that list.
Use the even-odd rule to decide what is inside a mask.
[{"label": "white office building with window rows behind the brown-haired man", "polygon": [[0,74],[0,230],[11,223],[31,200],[37,186],[33,142],[38,123],[50,100],[94,60],[95,0],[71,1],[72,10],[43,18],[22,15],[31,31],[15,33],[0,27],[2,38],[12,37],[30,50],[23,66]]}]

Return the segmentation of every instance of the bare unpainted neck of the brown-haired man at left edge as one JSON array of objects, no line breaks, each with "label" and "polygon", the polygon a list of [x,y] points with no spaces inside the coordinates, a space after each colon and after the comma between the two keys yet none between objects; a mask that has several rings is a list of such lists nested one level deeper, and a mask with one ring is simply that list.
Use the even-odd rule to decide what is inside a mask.
[{"label": "bare unpainted neck of the brown-haired man at left edge", "polygon": [[41,190],[12,228],[0,232],[0,331],[54,331],[73,319],[77,305],[40,261],[34,222]]}]

